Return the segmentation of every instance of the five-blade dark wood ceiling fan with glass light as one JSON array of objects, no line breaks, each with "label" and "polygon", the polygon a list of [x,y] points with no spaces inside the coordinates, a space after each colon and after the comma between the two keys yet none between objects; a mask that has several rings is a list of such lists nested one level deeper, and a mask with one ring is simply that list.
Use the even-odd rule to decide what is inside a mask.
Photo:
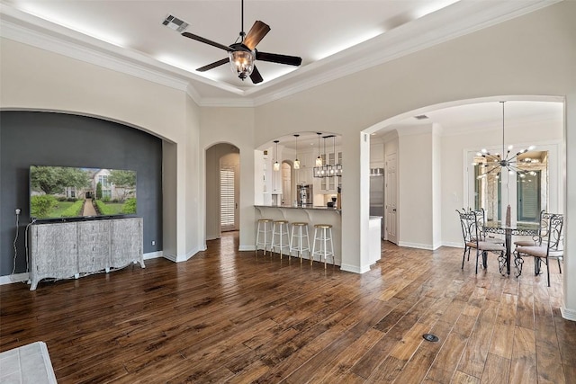
[{"label": "five-blade dark wood ceiling fan with glass light", "polygon": [[277,53],[260,52],[256,49],[257,44],[264,39],[266,34],[270,31],[270,27],[265,22],[257,20],[250,28],[248,33],[244,32],[244,0],[242,0],[242,14],[241,14],[241,30],[239,38],[235,43],[226,46],[216,41],[202,38],[202,36],[194,35],[190,32],[182,33],[182,36],[192,40],[197,40],[213,47],[224,49],[228,52],[228,58],[222,58],[207,66],[196,69],[198,72],[205,72],[215,67],[220,67],[226,63],[230,63],[232,70],[238,74],[238,77],[244,81],[247,76],[250,76],[252,83],[262,83],[264,80],[260,75],[254,62],[256,60],[269,61],[271,63],[286,64],[289,66],[300,66],[302,58],[296,56],[280,55]]}]

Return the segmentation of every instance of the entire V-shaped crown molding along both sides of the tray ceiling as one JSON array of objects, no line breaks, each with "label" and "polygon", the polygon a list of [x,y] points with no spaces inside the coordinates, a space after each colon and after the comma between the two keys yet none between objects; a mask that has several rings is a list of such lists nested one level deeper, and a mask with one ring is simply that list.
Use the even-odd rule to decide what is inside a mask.
[{"label": "entire V-shaped crown molding along both sides of the tray ceiling", "polygon": [[[240,89],[2,5],[0,36],[184,91],[199,106],[255,107],[382,65],[562,0],[460,1],[263,85]],[[342,63],[346,63],[342,65]],[[193,82],[237,97],[202,97]],[[239,97],[238,97],[239,96]]]}]

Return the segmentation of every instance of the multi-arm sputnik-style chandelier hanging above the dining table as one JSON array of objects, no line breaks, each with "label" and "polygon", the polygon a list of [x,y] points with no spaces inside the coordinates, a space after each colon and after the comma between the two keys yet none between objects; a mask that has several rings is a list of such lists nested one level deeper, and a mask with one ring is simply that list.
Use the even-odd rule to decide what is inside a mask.
[{"label": "multi-arm sputnik-style chandelier hanging above the dining table", "polygon": [[504,103],[502,104],[502,155],[500,153],[491,154],[486,148],[482,148],[480,152],[476,154],[476,156],[482,156],[483,161],[481,163],[473,163],[473,165],[480,165],[482,174],[478,176],[478,179],[483,177],[487,177],[488,175],[495,175],[496,178],[500,177],[500,173],[505,170],[509,174],[519,174],[520,177],[526,177],[526,174],[529,172],[523,169],[520,169],[518,165],[522,163],[537,163],[538,160],[531,159],[529,157],[520,160],[518,156],[527,153],[527,151],[531,151],[535,148],[535,146],[530,146],[525,149],[520,150],[516,154],[512,152],[514,149],[513,146],[508,146],[508,149],[505,151],[505,136],[504,136]]}]

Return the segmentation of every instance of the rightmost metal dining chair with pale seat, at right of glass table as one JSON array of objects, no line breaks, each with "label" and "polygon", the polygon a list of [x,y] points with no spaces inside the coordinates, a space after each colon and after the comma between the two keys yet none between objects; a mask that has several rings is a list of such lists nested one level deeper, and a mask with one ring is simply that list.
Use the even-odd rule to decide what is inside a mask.
[{"label": "rightmost metal dining chair with pale seat, at right of glass table", "polygon": [[514,263],[518,274],[522,274],[522,266],[524,265],[523,256],[534,257],[534,272],[535,274],[542,273],[542,262],[546,264],[546,278],[548,280],[548,287],[550,287],[550,259],[558,261],[558,268],[562,273],[562,265],[560,260],[563,259],[563,226],[564,216],[561,214],[551,214],[550,219],[547,220],[547,227],[545,233],[539,237],[536,246],[518,246],[514,251]]}]

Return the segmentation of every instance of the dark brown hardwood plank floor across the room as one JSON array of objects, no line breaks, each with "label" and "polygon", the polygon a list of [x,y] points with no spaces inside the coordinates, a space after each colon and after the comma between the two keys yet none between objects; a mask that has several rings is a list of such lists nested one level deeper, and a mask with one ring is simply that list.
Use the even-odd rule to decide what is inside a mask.
[{"label": "dark brown hardwood plank floor across the room", "polygon": [[548,288],[495,257],[462,271],[457,248],[383,243],[362,275],[237,249],[1,286],[0,352],[45,342],[59,383],[576,382],[557,264]]}]

